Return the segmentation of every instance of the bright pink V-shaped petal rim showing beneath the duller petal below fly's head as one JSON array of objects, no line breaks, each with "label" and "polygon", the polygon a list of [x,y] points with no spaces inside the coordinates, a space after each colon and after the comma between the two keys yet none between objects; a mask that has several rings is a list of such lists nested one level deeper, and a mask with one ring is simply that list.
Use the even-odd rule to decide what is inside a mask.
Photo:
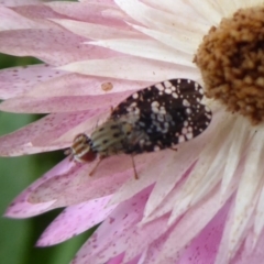
[{"label": "bright pink V-shaped petal rim showing beneath the duller petal below fly's head", "polygon": [[[42,183],[54,177],[55,175],[64,174],[68,172],[73,167],[73,163],[68,162],[68,158],[64,160],[55,167],[53,167],[50,172],[47,172],[42,178],[37,179],[30,187],[28,187],[22,194],[20,194],[7,209],[6,217],[10,218],[29,218],[32,216],[37,216],[45,211],[52,210],[54,208],[54,200],[50,200],[48,202],[42,204],[31,204],[29,202],[30,194]],[[74,169],[76,169],[74,167]],[[73,169],[73,170],[74,170]]]}]

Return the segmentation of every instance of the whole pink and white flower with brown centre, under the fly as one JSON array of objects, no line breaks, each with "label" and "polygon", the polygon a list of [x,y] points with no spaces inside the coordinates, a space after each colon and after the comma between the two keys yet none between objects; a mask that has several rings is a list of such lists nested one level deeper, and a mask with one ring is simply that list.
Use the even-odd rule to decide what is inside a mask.
[{"label": "whole pink and white flower with brown centre, under the fly", "polygon": [[261,263],[263,25],[260,0],[1,1],[0,52],[44,64],[1,70],[0,110],[48,113],[0,139],[15,156],[68,147],[133,90],[173,78],[205,87],[213,112],[198,138],[135,156],[65,158],[7,210],[64,212],[37,245],[102,222],[73,263]]}]

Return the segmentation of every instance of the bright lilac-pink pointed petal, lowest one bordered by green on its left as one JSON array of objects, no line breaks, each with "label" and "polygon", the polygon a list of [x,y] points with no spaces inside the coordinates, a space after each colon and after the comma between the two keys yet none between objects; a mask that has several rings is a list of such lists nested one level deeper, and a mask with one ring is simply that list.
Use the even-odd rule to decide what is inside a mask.
[{"label": "bright lilac-pink pointed petal, lowest one bordered by green on its left", "polygon": [[44,231],[38,246],[68,240],[103,221],[117,207],[107,207],[110,196],[67,207]]}]

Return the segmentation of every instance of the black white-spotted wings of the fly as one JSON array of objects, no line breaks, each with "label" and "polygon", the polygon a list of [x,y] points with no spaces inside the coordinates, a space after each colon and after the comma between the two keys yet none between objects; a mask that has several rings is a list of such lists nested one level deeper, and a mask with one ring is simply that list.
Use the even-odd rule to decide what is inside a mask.
[{"label": "black white-spotted wings of the fly", "polygon": [[[211,121],[202,97],[200,85],[190,79],[166,80],[131,95],[110,117],[125,134],[123,152],[158,151],[202,133]],[[128,123],[130,130],[123,129]]]}]

